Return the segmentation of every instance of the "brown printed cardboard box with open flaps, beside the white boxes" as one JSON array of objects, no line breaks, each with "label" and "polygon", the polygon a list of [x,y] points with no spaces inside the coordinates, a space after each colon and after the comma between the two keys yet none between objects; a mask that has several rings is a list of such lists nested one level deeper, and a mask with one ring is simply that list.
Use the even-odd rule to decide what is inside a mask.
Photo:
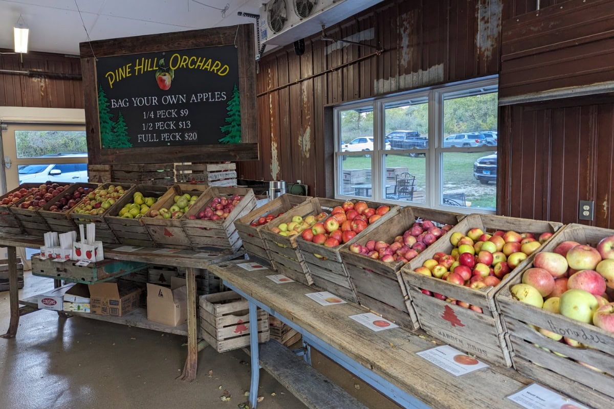
[{"label": "brown printed cardboard box with open flaps, beside the white boxes", "polygon": [[123,316],[139,307],[142,289],[130,281],[89,285],[92,314]]}]

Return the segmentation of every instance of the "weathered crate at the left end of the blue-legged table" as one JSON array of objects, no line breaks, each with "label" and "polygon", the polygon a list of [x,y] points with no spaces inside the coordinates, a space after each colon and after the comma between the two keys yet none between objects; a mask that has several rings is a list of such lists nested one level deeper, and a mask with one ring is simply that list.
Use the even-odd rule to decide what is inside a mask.
[{"label": "weathered crate at the left end of the blue-legged table", "polygon": [[250,258],[256,258],[258,262],[262,262],[267,267],[271,267],[271,255],[268,253],[261,233],[265,224],[252,226],[251,223],[253,221],[257,222],[258,218],[265,217],[266,215],[277,216],[279,213],[285,213],[296,205],[309,200],[311,200],[310,196],[282,194],[276,199],[255,208],[247,213],[247,215],[239,218],[235,223],[235,227],[239,232],[239,237],[243,240],[243,247]]}]

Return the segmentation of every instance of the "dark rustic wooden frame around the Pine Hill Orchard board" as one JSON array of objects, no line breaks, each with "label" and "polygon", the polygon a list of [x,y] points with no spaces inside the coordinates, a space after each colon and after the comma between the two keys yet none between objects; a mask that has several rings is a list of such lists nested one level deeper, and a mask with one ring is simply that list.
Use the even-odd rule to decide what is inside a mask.
[{"label": "dark rustic wooden frame around the Pine Hill Orchard board", "polygon": [[[241,90],[241,143],[169,147],[102,148],[98,117],[96,58],[235,45]],[[85,124],[90,164],[253,161],[258,159],[254,25],[168,32],[149,36],[82,42]]]}]

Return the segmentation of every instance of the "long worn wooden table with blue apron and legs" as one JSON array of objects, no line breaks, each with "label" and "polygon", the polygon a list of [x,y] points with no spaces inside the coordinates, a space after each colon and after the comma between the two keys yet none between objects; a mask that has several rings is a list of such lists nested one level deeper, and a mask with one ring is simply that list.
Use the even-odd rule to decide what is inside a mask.
[{"label": "long worn wooden table with blue apron and legs", "polygon": [[[262,308],[303,335],[303,340],[405,408],[518,409],[507,399],[531,383],[512,369],[488,369],[454,377],[416,353],[441,345],[422,331],[395,328],[373,332],[349,315],[355,304],[322,307],[304,294],[317,290],[297,282],[275,284],[270,270],[246,272],[232,262],[209,267],[224,284],[249,301],[250,314]],[[250,318],[252,319],[252,318]],[[254,334],[255,335],[255,334]],[[252,340],[251,391],[258,389],[257,338]],[[253,394],[256,397],[257,394]],[[250,396],[252,407],[255,399]]]}]

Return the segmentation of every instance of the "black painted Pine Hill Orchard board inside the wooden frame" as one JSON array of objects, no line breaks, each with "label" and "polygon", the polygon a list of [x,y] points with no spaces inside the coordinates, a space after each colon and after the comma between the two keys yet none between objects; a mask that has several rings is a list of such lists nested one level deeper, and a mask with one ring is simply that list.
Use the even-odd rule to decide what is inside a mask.
[{"label": "black painted Pine Hill Orchard board inside the wooden frame", "polygon": [[96,76],[103,149],[241,142],[234,45],[101,57]]}]

